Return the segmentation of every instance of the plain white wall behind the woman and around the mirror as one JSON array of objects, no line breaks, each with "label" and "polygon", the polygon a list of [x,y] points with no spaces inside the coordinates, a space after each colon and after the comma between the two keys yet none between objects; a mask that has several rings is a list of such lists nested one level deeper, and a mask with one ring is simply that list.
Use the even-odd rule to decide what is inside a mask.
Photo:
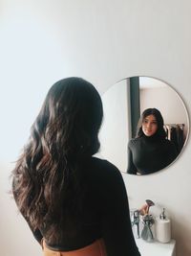
[{"label": "plain white wall behind the woman and around the mirror", "polygon": [[[10,162],[48,87],[60,78],[80,76],[103,93],[120,79],[151,76],[172,84],[190,112],[191,2],[1,0],[0,7],[1,253],[41,255],[7,190]],[[190,153],[188,141],[165,172],[123,175],[131,207],[151,198],[168,210],[178,256],[191,254]]]}]

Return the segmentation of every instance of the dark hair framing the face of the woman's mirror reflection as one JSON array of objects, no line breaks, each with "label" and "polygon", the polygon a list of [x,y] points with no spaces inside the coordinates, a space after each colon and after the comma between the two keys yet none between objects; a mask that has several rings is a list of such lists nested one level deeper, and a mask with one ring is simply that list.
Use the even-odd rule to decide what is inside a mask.
[{"label": "dark hair framing the face of the woman's mirror reflection", "polygon": [[144,133],[142,131],[142,123],[143,123],[143,120],[149,115],[154,115],[156,120],[157,120],[158,129],[156,131],[156,136],[159,137],[159,139],[165,139],[166,132],[163,128],[164,121],[163,121],[161,113],[159,112],[159,109],[157,109],[157,108],[147,108],[142,112],[142,114],[139,118],[139,121],[138,121],[138,128],[137,128],[137,136],[136,137],[141,137],[141,136],[144,135]]}]

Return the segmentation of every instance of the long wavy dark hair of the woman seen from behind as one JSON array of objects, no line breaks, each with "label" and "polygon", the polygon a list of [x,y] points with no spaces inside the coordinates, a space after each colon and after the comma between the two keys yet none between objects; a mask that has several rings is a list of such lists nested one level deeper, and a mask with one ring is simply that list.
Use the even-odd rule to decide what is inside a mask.
[{"label": "long wavy dark hair of the woman seen from behind", "polygon": [[67,78],[49,90],[12,171],[12,193],[33,230],[48,221],[55,230],[63,205],[77,212],[80,162],[99,149],[102,116],[100,96],[88,81]]}]

